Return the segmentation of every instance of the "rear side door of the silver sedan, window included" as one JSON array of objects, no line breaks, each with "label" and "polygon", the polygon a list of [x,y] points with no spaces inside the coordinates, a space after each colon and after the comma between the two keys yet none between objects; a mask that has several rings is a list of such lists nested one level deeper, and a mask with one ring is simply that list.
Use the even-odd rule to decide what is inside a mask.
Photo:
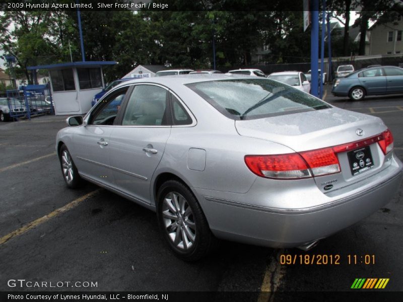
[{"label": "rear side door of the silver sedan, window included", "polygon": [[151,178],[171,133],[168,95],[162,86],[135,85],[110,136],[115,188],[146,203],[151,203]]}]

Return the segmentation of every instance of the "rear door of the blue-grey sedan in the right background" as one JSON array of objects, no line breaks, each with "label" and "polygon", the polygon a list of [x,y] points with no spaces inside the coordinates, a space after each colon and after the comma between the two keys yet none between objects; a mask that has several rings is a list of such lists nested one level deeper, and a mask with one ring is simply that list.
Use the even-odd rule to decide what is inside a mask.
[{"label": "rear door of the blue-grey sedan in the right background", "polygon": [[358,74],[367,95],[384,94],[387,90],[386,76],[381,67],[364,70]]}]

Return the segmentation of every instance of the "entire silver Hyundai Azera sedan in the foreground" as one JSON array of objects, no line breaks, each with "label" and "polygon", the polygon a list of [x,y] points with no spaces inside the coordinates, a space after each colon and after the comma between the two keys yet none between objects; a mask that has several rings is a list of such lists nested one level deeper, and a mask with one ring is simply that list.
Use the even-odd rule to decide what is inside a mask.
[{"label": "entire silver Hyundai Azera sedan in the foreground", "polygon": [[56,139],[66,184],[156,211],[185,260],[215,238],[307,249],[386,204],[402,177],[381,119],[268,79],[128,81],[68,123]]}]

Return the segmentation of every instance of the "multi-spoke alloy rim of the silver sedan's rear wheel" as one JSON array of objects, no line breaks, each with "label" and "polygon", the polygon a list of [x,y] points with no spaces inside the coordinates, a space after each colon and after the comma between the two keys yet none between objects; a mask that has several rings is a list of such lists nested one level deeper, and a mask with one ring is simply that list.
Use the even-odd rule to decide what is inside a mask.
[{"label": "multi-spoke alloy rim of the silver sedan's rear wheel", "polygon": [[196,239],[196,224],[186,199],[177,192],[166,194],[162,203],[162,217],[174,246],[179,250],[189,250]]}]

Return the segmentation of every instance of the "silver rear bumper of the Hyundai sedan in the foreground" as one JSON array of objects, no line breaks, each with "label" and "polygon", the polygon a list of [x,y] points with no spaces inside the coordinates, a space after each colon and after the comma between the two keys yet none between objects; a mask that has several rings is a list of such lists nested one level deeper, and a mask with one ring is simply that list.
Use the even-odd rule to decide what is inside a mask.
[{"label": "silver rear bumper of the Hyundai sedan in the foreground", "polygon": [[[248,193],[243,194],[244,202],[240,202],[215,197],[212,191],[193,190],[218,238],[288,248],[328,237],[371,215],[390,201],[402,177],[400,161],[393,160],[389,167],[368,178],[372,181],[366,179],[361,187],[358,183],[352,185],[353,188],[345,188],[345,192],[339,195],[332,192],[332,196],[320,192],[327,203],[295,209],[271,207],[271,199],[276,199],[276,196],[262,195],[267,206],[257,206],[248,203]],[[316,188],[316,191],[319,190]],[[223,196],[221,193],[217,195]],[[299,204],[310,198],[306,190],[298,192],[293,189],[293,194]],[[317,197],[317,192],[312,190],[312,198]]]}]

